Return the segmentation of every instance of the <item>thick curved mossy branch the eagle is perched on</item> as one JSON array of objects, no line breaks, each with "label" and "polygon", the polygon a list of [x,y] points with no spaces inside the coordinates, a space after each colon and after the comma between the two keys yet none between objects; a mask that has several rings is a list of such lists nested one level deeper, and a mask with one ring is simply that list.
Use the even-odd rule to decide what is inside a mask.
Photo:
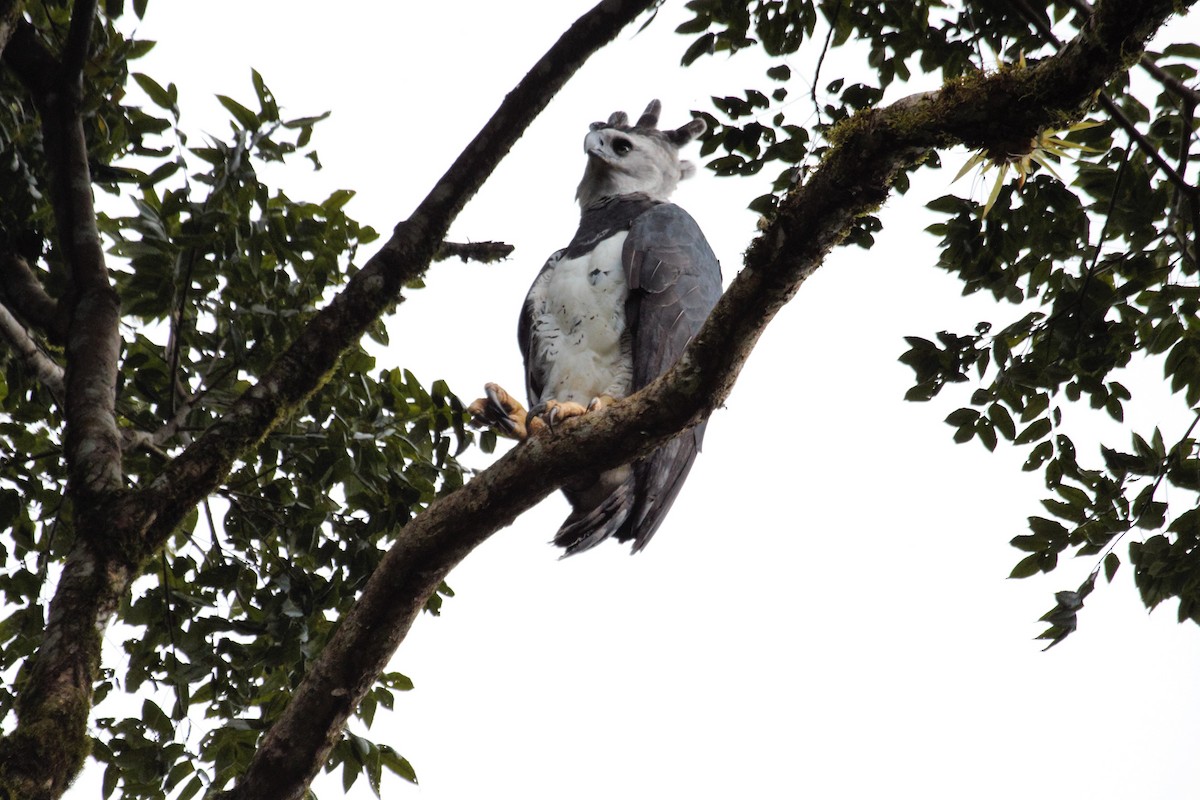
[{"label": "thick curved mossy branch the eagle is perched on", "polygon": [[781,204],[676,367],[604,413],[570,420],[559,433],[516,447],[404,528],[230,796],[298,796],[425,600],[492,533],[563,480],[644,455],[719,407],[775,312],[854,221],[887,198],[901,170],[934,148],[998,148],[1078,119],[1092,94],[1128,66],[1127,58],[1171,11],[1170,1],[1102,2],[1093,24],[1033,68],[966,79],[841,126],[821,168]]}]

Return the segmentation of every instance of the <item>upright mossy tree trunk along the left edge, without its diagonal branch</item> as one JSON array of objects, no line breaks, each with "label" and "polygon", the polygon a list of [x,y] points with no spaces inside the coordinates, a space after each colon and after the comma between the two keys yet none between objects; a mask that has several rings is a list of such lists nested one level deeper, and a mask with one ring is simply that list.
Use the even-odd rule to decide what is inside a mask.
[{"label": "upright mossy tree trunk along the left edge, without its diagonal branch", "polygon": [[25,22],[4,53],[37,107],[55,237],[70,278],[65,455],[76,533],[18,697],[17,728],[0,741],[0,784],[20,798],[60,795],[83,765],[101,632],[137,567],[113,535],[107,509],[124,488],[115,411],[120,309],[96,225],[80,112],[95,13],[94,1],[76,5],[64,64]]}]

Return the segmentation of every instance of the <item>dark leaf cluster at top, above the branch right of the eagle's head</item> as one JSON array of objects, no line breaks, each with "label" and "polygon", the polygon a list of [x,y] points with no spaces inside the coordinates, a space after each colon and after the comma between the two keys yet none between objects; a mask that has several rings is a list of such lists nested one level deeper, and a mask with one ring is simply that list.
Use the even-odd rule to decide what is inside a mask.
[{"label": "dark leaf cluster at top, above the branch right of the eagle's head", "polygon": [[[1067,6],[1055,4],[1050,13],[1061,18]],[[718,175],[757,174],[778,162],[773,193],[750,206],[766,216],[826,151],[823,134],[878,104],[893,83],[908,80],[914,71],[949,80],[984,62],[1016,61],[1045,48],[1018,13],[996,4],[692,0],[688,10],[691,19],[677,30],[695,38],[683,64],[748,48],[770,59],[766,86],[746,89],[743,97],[714,97],[716,114],[702,114],[708,122],[703,155],[724,151],[708,162]],[[838,48],[860,50],[871,78],[823,76],[826,55]],[[797,64],[812,56],[814,72],[800,74]],[[925,166],[937,163],[932,157]],[[901,175],[896,188],[906,187]],[[864,218],[851,243],[870,247],[877,229],[874,217]]]}]

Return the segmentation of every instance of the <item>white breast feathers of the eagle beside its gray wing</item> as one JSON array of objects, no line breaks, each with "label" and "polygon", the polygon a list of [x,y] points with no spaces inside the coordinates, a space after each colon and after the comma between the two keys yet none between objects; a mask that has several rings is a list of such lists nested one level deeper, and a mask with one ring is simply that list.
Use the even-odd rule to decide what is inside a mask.
[{"label": "white breast feathers of the eagle beside its gray wing", "polygon": [[541,397],[587,404],[593,397],[624,397],[632,380],[625,331],[625,233],[586,255],[559,261],[534,299],[533,355],[548,363]]}]

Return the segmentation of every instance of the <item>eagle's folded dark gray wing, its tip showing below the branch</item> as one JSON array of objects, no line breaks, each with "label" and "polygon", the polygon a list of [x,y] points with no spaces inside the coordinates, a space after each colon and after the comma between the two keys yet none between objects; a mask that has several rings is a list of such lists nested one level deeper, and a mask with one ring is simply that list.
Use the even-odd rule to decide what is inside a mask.
[{"label": "eagle's folded dark gray wing, its tip showing below the branch", "polygon": [[[632,331],[634,391],[666,372],[721,296],[721,265],[700,225],[677,205],[656,205],[634,221],[622,254]],[[662,524],[691,470],[706,423],[684,431],[634,464],[634,505],[617,531],[634,551]]]}]

